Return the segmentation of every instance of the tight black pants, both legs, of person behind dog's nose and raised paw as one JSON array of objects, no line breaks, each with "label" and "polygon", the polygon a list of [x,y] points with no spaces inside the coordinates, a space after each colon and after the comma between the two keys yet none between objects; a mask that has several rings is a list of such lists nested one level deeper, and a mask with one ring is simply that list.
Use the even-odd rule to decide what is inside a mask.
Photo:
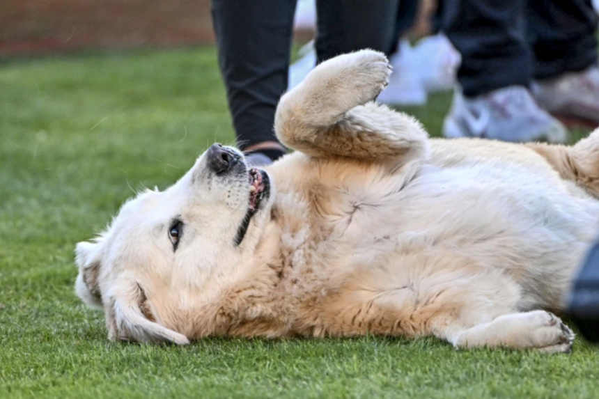
[{"label": "tight black pants, both legs, of person behind dog's nose and raised paw", "polygon": [[[212,0],[212,21],[238,145],[276,140],[287,88],[296,0]],[[399,0],[317,0],[318,61],[366,47],[396,46]]]}]

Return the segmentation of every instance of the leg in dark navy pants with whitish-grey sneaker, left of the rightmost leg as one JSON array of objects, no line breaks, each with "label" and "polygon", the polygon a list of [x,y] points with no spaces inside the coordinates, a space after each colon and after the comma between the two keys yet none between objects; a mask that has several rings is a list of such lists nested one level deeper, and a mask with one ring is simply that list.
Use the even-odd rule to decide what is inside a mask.
[{"label": "leg in dark navy pants with whitish-grey sneaker, left of the rightmost leg", "polygon": [[462,55],[460,88],[443,125],[447,137],[566,141],[566,129],[541,109],[529,86],[528,0],[446,0],[442,30]]}]

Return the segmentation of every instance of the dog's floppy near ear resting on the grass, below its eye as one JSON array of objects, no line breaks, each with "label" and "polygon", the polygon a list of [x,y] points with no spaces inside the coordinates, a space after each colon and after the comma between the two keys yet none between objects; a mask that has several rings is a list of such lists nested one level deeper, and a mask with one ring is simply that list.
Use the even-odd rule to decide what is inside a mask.
[{"label": "dog's floppy near ear resting on the grass, below its eye", "polygon": [[141,310],[146,294],[138,283],[121,279],[111,287],[106,297],[109,338],[140,343],[189,343],[186,336],[146,318]]}]

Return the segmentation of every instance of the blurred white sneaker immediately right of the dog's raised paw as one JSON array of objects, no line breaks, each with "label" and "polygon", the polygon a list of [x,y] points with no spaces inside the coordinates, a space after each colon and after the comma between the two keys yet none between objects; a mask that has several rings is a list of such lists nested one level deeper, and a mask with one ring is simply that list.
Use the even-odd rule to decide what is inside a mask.
[{"label": "blurred white sneaker immediately right of the dog's raised paw", "polygon": [[414,65],[414,54],[410,42],[401,40],[399,51],[389,58],[393,67],[389,85],[377,97],[382,104],[400,106],[426,104],[426,90]]}]

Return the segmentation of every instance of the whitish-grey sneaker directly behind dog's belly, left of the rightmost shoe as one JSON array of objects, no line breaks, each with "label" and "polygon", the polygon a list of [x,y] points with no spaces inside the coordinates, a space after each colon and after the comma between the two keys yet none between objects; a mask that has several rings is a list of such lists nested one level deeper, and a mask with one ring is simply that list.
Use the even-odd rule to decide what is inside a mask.
[{"label": "whitish-grey sneaker directly behind dog's belly, left of the rightmost shoe", "polygon": [[456,89],[443,134],[449,138],[483,137],[516,142],[564,143],[568,139],[566,128],[541,109],[530,91],[522,86],[500,88],[474,98],[464,97]]}]

